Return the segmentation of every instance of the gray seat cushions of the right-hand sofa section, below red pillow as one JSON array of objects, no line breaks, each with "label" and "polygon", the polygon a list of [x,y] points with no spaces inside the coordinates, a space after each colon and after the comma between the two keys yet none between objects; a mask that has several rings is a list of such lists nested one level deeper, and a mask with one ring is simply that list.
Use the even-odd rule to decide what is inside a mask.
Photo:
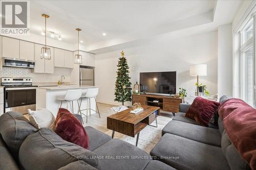
[{"label": "gray seat cushions of the right-hand sofa section, below red pillow", "polygon": [[[230,98],[224,95],[220,102]],[[218,124],[203,127],[185,117],[189,106],[180,105],[180,113],[163,128],[151,155],[176,169],[250,169],[229,140],[218,113]]]}]

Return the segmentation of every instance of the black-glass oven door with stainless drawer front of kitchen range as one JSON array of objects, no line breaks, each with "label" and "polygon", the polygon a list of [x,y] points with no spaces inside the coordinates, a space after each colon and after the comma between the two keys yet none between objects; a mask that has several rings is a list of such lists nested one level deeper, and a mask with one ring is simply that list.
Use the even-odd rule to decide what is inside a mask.
[{"label": "black-glass oven door with stainless drawer front of kitchen range", "polygon": [[5,111],[26,114],[28,109],[35,110],[36,89],[6,88]]}]

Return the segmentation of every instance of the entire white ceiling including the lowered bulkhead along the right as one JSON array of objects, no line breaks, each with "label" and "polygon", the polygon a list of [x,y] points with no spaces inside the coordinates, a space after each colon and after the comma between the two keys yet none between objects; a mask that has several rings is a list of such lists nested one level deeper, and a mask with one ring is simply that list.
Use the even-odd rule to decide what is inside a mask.
[{"label": "entire white ceiling including the lowered bulkhead along the right", "polygon": [[[172,39],[216,30],[231,23],[242,0],[199,1],[31,1],[30,30],[40,35],[42,13],[50,15],[47,28],[62,35],[62,42],[104,53],[153,39]],[[102,33],[106,33],[103,36]],[[49,36],[49,38],[51,38]],[[55,40],[57,38],[54,38]]]}]

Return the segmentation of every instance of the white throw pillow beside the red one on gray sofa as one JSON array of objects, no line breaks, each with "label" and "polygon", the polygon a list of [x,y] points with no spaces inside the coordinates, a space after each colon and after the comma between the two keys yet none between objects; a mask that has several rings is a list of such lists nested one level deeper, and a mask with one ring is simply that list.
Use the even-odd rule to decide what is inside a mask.
[{"label": "white throw pillow beside the red one on gray sofa", "polygon": [[36,128],[50,128],[55,127],[55,117],[51,111],[41,108],[39,110],[30,110],[29,112],[29,122]]}]

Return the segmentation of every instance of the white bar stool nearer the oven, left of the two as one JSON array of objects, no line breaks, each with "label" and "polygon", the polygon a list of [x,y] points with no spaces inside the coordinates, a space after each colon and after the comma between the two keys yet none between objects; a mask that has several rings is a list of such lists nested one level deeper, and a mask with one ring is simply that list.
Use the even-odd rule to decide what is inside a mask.
[{"label": "white bar stool nearer the oven, left of the two", "polygon": [[[73,105],[73,101],[77,102],[78,105],[78,112],[80,112],[81,116],[81,110],[80,110],[80,105],[78,102],[78,99],[80,99],[82,96],[82,89],[74,89],[74,90],[67,90],[67,93],[65,95],[65,97],[63,99],[57,99],[58,101],[61,101],[60,103],[60,107],[62,106],[63,101],[67,102],[67,109],[68,109],[68,102],[72,103],[72,113],[74,114],[74,105]],[[83,120],[82,120],[83,123]]]}]

